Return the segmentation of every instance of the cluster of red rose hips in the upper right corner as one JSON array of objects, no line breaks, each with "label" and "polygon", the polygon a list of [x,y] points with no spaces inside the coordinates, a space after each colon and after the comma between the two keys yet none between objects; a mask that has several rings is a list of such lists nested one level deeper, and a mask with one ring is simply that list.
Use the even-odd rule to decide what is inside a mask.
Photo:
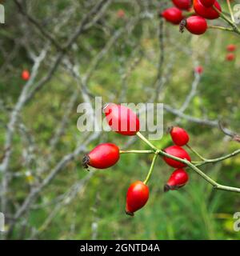
[{"label": "cluster of red rose hips in the upper right corner", "polygon": [[[219,18],[219,13],[222,12],[216,0],[172,0],[172,2],[174,7],[164,10],[160,16],[167,22],[180,25],[181,32],[186,28],[192,34],[204,34],[207,30],[206,19]],[[184,14],[184,11],[189,13]]]}]

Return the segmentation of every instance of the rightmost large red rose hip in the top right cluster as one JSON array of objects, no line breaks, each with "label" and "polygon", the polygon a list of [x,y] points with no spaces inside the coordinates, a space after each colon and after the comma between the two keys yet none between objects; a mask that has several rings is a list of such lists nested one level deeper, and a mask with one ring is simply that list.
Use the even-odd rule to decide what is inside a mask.
[{"label": "rightmost large red rose hip in the top right cluster", "polygon": [[[222,11],[221,6],[219,5],[218,1],[215,1],[214,6],[219,10]],[[215,19],[219,18],[219,14],[216,10],[214,10],[213,7],[205,7],[202,5],[200,0],[194,0],[194,10],[199,15],[202,16],[202,18],[207,19]]]}]

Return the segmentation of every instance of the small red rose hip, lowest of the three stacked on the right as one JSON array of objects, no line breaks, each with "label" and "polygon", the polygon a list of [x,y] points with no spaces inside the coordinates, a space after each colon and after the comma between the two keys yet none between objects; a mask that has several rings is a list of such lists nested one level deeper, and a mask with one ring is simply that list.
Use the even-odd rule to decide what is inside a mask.
[{"label": "small red rose hip, lowest of the three stacked on the right", "polygon": [[186,185],[187,181],[188,181],[188,174],[186,173],[186,170],[183,170],[183,169],[174,170],[168,182],[164,186],[164,192],[167,192],[169,190],[178,190],[180,187]]}]

